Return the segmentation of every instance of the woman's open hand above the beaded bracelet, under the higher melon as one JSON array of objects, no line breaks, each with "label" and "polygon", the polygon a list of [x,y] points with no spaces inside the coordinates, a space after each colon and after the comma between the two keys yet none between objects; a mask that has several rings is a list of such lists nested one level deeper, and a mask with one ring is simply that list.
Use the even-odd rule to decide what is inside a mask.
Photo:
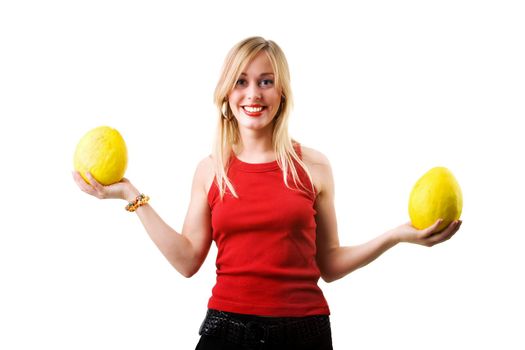
[{"label": "woman's open hand above the beaded bracelet, under the higher melon", "polygon": [[122,178],[122,180],[119,182],[105,186],[95,180],[95,178],[89,172],[86,173],[86,177],[90,183],[84,181],[78,171],[73,171],[73,179],[75,180],[77,186],[83,192],[86,192],[87,194],[90,194],[99,199],[118,198],[124,199],[126,201],[132,201],[139,194],[137,189],[126,178]]}]

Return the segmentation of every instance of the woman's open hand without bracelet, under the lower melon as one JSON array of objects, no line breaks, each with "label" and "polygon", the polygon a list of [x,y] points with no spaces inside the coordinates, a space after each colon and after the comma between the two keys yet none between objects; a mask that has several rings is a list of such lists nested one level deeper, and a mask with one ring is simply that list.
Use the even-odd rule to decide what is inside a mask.
[{"label": "woman's open hand without bracelet, under the lower melon", "polygon": [[442,231],[436,232],[438,226],[443,220],[438,219],[432,226],[423,230],[418,230],[407,222],[391,230],[391,234],[396,237],[398,242],[407,242],[432,247],[436,244],[449,240],[461,227],[461,220],[452,221]]}]

